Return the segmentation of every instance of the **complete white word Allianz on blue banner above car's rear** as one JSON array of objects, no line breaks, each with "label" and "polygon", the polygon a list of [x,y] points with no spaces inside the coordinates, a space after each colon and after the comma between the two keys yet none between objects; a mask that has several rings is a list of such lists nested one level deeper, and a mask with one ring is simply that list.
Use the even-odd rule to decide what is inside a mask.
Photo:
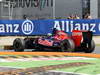
[{"label": "complete white word Allianz on blue banner above car's rear", "polygon": [[[63,30],[65,32],[72,32],[73,30],[90,30],[96,32],[95,27],[95,23],[74,23],[73,20],[54,22],[54,28],[57,28],[58,30]],[[98,28],[100,31],[100,24],[98,25]]]}]

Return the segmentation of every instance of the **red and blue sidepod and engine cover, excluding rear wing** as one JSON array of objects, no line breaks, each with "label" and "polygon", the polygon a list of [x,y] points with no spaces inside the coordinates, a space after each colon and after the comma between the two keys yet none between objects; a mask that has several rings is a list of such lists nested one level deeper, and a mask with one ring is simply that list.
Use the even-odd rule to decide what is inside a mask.
[{"label": "red and blue sidepod and engine cover, excluding rear wing", "polygon": [[64,31],[56,31],[55,35],[50,37],[40,37],[38,39],[38,44],[44,45],[44,46],[53,46],[55,42],[60,43],[61,41],[69,39],[68,34],[66,34]]}]

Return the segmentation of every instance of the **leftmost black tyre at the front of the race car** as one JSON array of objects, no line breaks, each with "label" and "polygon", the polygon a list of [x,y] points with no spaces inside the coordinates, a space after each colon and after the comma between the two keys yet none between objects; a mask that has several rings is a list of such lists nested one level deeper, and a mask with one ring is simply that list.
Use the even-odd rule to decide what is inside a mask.
[{"label": "leftmost black tyre at the front of the race car", "polygon": [[13,42],[13,48],[16,52],[22,52],[25,48],[25,41],[23,39],[17,38]]}]

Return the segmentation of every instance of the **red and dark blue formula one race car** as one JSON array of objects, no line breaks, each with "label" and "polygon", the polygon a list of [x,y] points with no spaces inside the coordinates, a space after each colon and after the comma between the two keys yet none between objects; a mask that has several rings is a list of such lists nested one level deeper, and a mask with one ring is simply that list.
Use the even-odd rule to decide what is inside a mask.
[{"label": "red and dark blue formula one race car", "polygon": [[64,31],[54,29],[51,36],[40,36],[37,38],[16,38],[13,42],[15,51],[24,49],[58,50],[61,52],[83,51],[91,53],[95,49],[91,31],[73,30],[71,35]]}]

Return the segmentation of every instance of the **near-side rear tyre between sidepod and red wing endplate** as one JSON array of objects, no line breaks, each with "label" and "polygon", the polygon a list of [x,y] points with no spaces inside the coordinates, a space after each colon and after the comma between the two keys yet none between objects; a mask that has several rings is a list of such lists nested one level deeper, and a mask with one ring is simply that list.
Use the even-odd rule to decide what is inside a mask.
[{"label": "near-side rear tyre between sidepod and red wing endplate", "polygon": [[62,52],[73,52],[75,49],[75,44],[71,39],[65,39],[61,42]]}]

